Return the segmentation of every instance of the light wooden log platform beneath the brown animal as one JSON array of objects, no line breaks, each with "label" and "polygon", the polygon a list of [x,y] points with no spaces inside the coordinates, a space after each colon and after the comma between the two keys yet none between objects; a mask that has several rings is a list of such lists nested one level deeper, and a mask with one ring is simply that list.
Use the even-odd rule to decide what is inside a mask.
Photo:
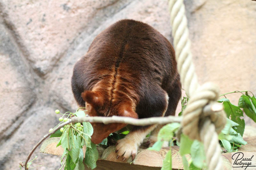
[{"label": "light wooden log platform beneath the brown animal", "polygon": [[[239,148],[241,152],[256,152],[256,128],[247,126],[244,132],[244,140],[248,143],[245,146]],[[59,142],[59,137],[49,138],[44,141],[40,148],[40,152],[53,155],[62,155],[63,149],[61,146],[56,148]],[[109,146],[107,149],[104,147],[97,147],[99,152],[99,160],[97,161],[97,167],[95,170],[157,170],[161,169],[163,165],[163,159],[165,154],[169,151],[169,147],[162,148],[159,152],[149,151],[147,149],[139,149],[135,159],[131,158],[122,161],[122,158],[116,159],[115,146]],[[84,153],[86,148],[83,148]],[[180,156],[179,147],[172,146],[172,169],[182,170],[182,158]],[[189,158],[188,158],[189,159]],[[231,153],[222,154],[223,165],[225,170],[231,169]],[[85,166],[85,169],[88,169]]]}]

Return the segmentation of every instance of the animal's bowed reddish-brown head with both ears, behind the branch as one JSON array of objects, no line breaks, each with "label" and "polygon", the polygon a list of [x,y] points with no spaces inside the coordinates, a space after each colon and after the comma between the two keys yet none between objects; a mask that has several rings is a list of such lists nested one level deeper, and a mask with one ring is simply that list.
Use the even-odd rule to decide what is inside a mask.
[{"label": "animal's bowed reddish-brown head with both ears, behind the branch", "polygon": [[[111,99],[104,91],[84,91],[81,94],[89,116],[126,116],[138,118],[131,100]],[[112,132],[122,129],[124,123],[91,123],[93,127],[92,142],[99,144]]]}]

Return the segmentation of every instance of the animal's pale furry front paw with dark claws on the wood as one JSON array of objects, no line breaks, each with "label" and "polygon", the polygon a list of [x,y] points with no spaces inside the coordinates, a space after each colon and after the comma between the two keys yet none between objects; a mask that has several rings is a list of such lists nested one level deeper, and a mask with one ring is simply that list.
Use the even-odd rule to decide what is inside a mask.
[{"label": "animal's pale furry front paw with dark claws on the wood", "polygon": [[116,159],[122,156],[124,161],[125,159],[129,158],[132,155],[133,160],[137,153],[137,149],[138,144],[136,144],[134,141],[127,138],[120,139],[116,143]]}]

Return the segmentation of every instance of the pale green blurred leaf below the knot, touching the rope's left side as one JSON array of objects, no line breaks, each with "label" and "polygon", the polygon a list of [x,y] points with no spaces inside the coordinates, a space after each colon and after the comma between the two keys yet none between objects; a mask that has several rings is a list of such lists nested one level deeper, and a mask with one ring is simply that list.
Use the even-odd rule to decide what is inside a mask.
[{"label": "pale green blurred leaf below the knot, touching the rope's left side", "polygon": [[194,140],[190,151],[193,164],[198,168],[202,168],[205,164],[204,145],[198,140]]}]

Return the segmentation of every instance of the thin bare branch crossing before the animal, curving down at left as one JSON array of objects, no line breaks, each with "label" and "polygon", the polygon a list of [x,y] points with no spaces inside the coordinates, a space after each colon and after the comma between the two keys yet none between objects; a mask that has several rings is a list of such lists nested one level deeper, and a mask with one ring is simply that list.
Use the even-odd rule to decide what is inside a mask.
[{"label": "thin bare branch crossing before the animal, curving down at left", "polygon": [[28,170],[27,164],[28,160],[30,159],[33,152],[35,152],[36,148],[50,135],[54,134],[57,130],[64,127],[65,125],[69,123],[76,123],[76,122],[93,122],[93,123],[125,123],[125,124],[131,124],[136,126],[146,126],[151,124],[167,124],[172,122],[181,122],[182,116],[175,117],[175,116],[167,116],[167,117],[150,117],[150,118],[143,118],[143,119],[135,119],[131,117],[122,117],[122,116],[112,116],[112,117],[100,117],[100,116],[94,116],[94,117],[72,117],[67,122],[61,123],[58,127],[53,129],[52,132],[48,133],[47,135],[44,135],[44,137],[33,147],[32,151],[28,154],[28,157],[26,159],[26,162],[24,164],[25,170]]}]

